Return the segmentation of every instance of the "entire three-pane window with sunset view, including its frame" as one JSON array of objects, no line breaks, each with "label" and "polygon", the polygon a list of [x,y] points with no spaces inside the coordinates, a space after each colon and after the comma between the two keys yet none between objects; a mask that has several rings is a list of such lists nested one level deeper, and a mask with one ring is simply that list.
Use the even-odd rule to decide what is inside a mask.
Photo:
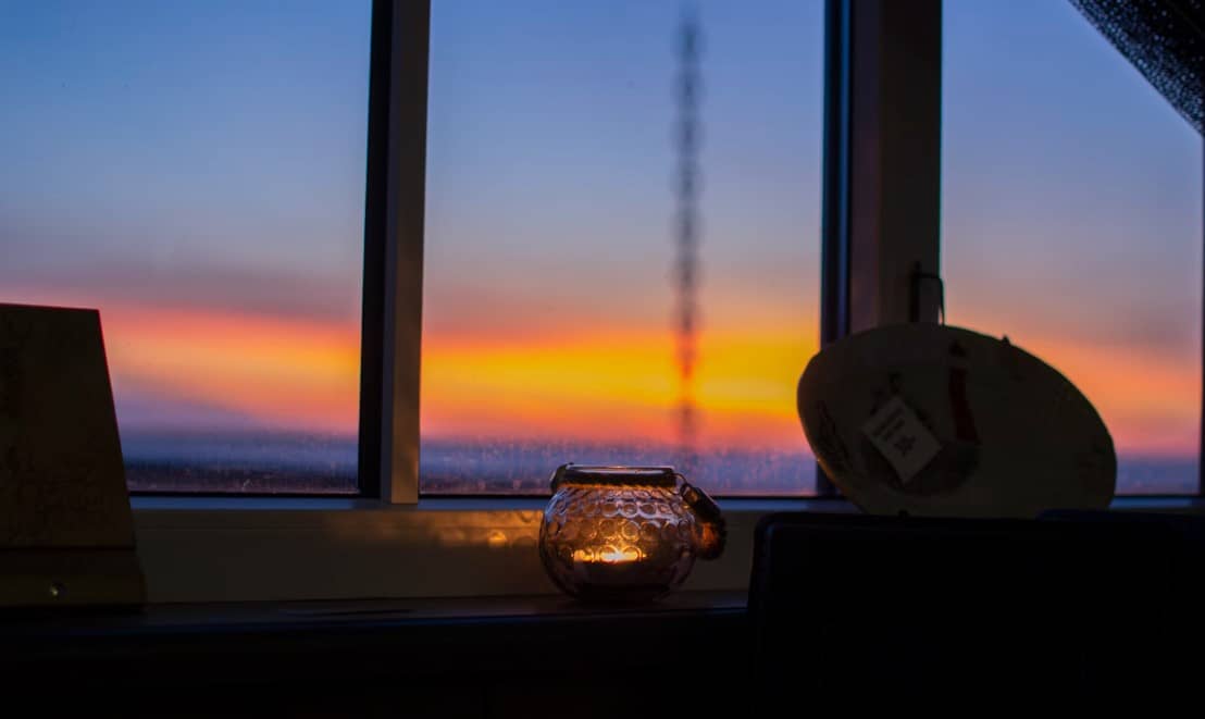
[{"label": "entire three-pane window with sunset view, including its frame", "polygon": [[[398,283],[389,294],[390,263],[380,257],[386,254],[382,246],[399,238],[413,246],[400,254],[415,247],[427,254],[425,284],[402,287],[425,294],[421,411],[428,495],[542,493],[551,468],[570,459],[689,460],[678,446],[674,414],[681,391],[672,334],[681,201],[674,190],[678,4],[441,0],[431,8],[430,25],[422,0],[369,5],[0,6],[0,301],[101,308],[135,489],[351,494],[359,475],[369,496],[380,479],[387,501],[417,501],[418,358],[395,361],[388,347],[374,346],[384,344],[382,332],[360,336],[363,287],[364,326],[381,330],[387,324],[376,316],[390,308],[372,302],[405,300],[392,310],[413,312],[399,330],[413,335],[396,344],[418,352],[419,302],[402,296]],[[923,16],[917,23],[923,42],[933,28],[927,13],[936,6],[918,2],[922,10],[913,12],[907,5],[862,7],[880,20],[888,14],[884,8]],[[1122,254],[1092,255],[1101,265],[1094,271],[1133,288],[1124,284],[1133,277],[1116,272],[1133,264],[1150,279],[1127,293],[1139,296],[1122,310],[1140,308],[1142,318],[1157,320],[1174,317],[1177,331],[1187,326],[1197,332],[1199,141],[1186,140],[1183,128],[1168,122],[1174,114],[1070,8],[1054,2],[946,5],[942,273],[951,322],[1009,332],[1018,344],[1050,356],[1095,397],[1098,381],[1112,383],[1121,375],[1078,373],[1082,364],[1066,360],[1082,354],[1044,346],[1050,335],[1038,331],[1054,324],[1050,317],[1070,317],[1059,306],[1068,294],[1064,277],[1082,295],[1066,305],[1083,297],[1103,301],[1099,285],[1076,279],[1082,261],[1068,269],[1069,258],[1089,257],[1086,241],[1076,235],[1077,243],[1065,251],[1038,247],[1018,231],[1016,241],[1028,242],[1021,251],[1010,244],[1006,254],[991,244],[1001,236],[1000,226],[1007,230],[1004,220],[1028,220],[1027,226],[1044,232],[1035,237],[1050,237],[1050,226],[1064,230],[1070,223],[1059,207],[1027,194],[1016,175],[984,167],[1028,160],[1035,172],[1068,178],[1045,189],[1069,198],[1066,206],[1081,207],[1084,190],[1075,183],[1109,170],[1110,163],[1130,163],[1172,204],[1154,216],[1141,194],[1146,188],[1133,195],[1104,193],[1110,201],[1125,195],[1125,202],[1105,210],[1128,235],[1145,236],[1131,231],[1135,223],[1142,226],[1135,219],[1142,217],[1151,217],[1160,232],[1150,243],[1152,252],[1135,254],[1127,247]],[[824,13],[825,6],[833,12]],[[899,132],[900,117],[923,117],[921,129],[935,131],[928,116],[933,107],[877,114],[851,110],[845,81],[853,77],[848,63],[854,55],[878,61],[906,45],[886,43],[875,28],[854,31],[846,0],[716,0],[699,8],[701,323],[690,388],[699,411],[692,477],[724,494],[807,493],[816,487],[813,465],[792,396],[819,334],[821,78],[827,73],[825,87],[839,89],[834,94],[841,98],[829,106],[825,142],[827,157],[840,161],[825,166],[846,172],[840,181],[839,172],[825,176],[828,189],[836,191],[825,195],[824,214],[834,222],[825,223],[824,236],[842,241],[828,243],[824,276],[845,277],[850,270],[863,283],[825,285],[823,320],[830,337],[863,319],[852,317],[852,305],[870,305],[865,296],[876,293],[876,301],[895,300],[899,293],[887,273],[875,276],[865,260],[850,257],[851,228],[841,216],[868,193],[857,191],[865,176],[854,177],[860,184],[844,182],[851,171],[857,176],[865,170],[851,167],[846,145],[874,136],[915,139],[909,134],[913,128]],[[411,22],[416,18],[421,22]],[[1042,23],[1050,18],[1057,22],[1047,28]],[[999,36],[984,29],[995,24]],[[1068,46],[1060,61],[1099,63],[1070,88],[1069,98],[1088,94],[1084,105],[1060,106],[1058,93],[1044,84],[1057,78],[1035,70],[1025,53],[1010,52],[1033,40],[1034,47],[1025,49],[1045,57],[1048,43],[1044,49],[1036,42],[1042,33],[1066,33],[1054,41]],[[399,70],[425,70],[428,40],[429,112],[407,114],[422,105],[428,73]],[[822,67],[825,41],[829,66]],[[1089,54],[1072,58],[1078,49]],[[382,66],[393,75],[377,72]],[[900,92],[893,84],[898,79],[886,77],[882,84],[892,92],[877,96],[913,98],[911,87]],[[1093,100],[1093,83],[1105,81],[1121,83],[1115,87],[1127,101],[1122,111]],[[401,117],[387,116],[382,123],[382,108]],[[1019,119],[1018,108],[1024,110]],[[1083,128],[1091,132],[1081,136],[1080,125],[1075,132],[1066,129],[1064,112],[1086,118]],[[1134,112],[1150,113],[1144,117],[1153,124],[1097,136],[1101,128],[1116,130],[1117,123],[1139,126],[1127,124]],[[429,118],[429,126],[415,118]],[[892,118],[897,124],[883,131]],[[995,131],[978,131],[972,123]],[[1038,132],[1042,142],[1016,142],[1017,128]],[[387,134],[399,142],[384,142]],[[839,136],[841,142],[834,142]],[[1088,140],[1093,152],[1084,152]],[[1139,146],[1139,140],[1150,145]],[[1001,143],[1025,152],[1016,158],[997,152]],[[1169,147],[1177,143],[1187,157],[1168,160],[1174,154]],[[366,145],[372,145],[368,183]],[[1030,152],[1030,145],[1059,161]],[[877,160],[895,163],[899,187],[901,177],[904,184],[913,179],[906,165],[917,154],[894,152]],[[1148,161],[1180,170],[1148,172]],[[399,167],[401,187],[387,187],[382,177]],[[931,175],[936,185],[936,172]],[[1001,185],[1000,177],[1012,182]],[[422,210],[421,191],[425,232],[415,231],[423,224],[422,212],[415,212]],[[935,202],[936,187],[921,194],[930,193]],[[834,207],[841,212],[829,212]],[[383,219],[384,210],[401,210],[406,226],[389,228],[396,218]],[[1166,224],[1185,217],[1197,223],[1188,238]],[[1045,218],[1058,222],[1035,224]],[[893,238],[909,235],[899,223],[894,230]],[[935,257],[937,232],[912,232],[907,240],[921,235],[923,249]],[[1101,236],[1110,248],[1119,244],[1113,235]],[[834,244],[840,247],[834,251]],[[884,253],[884,264],[898,270],[894,264],[904,254]],[[1011,255],[1035,261],[1022,266]],[[394,263],[394,270],[408,259]],[[1185,282],[1160,269],[1172,260],[1183,269]],[[412,265],[411,271],[422,267]],[[1015,291],[1001,283],[1017,278],[1051,302],[1040,308],[1010,303]],[[621,282],[635,291],[616,291]],[[1117,305],[1104,306],[1130,317]],[[570,311],[584,322],[566,322]],[[237,322],[223,322],[233,319]],[[1101,356],[1112,364],[1101,366],[1146,356],[1134,332],[1091,326],[1107,330],[1098,335],[1104,341],[1077,347],[1107,348]],[[363,356],[362,342],[368,348]],[[1198,413],[1200,361],[1191,344],[1199,337],[1188,342],[1150,343],[1163,352],[1158,366],[1168,370],[1160,376],[1176,391],[1147,383],[1144,389],[1158,390],[1147,408],[1162,414],[1128,416],[1153,417],[1158,422],[1150,426],[1168,428],[1168,437],[1181,440]],[[1124,352],[1110,354],[1118,347]],[[383,365],[360,378],[369,388],[359,402],[368,419],[360,432],[363,465],[355,436],[360,361],[370,370],[374,363]],[[390,371],[394,378],[404,375],[401,390],[372,391],[372,383],[384,383]],[[199,382],[201,376],[214,379]],[[384,417],[389,407],[377,412],[375,402],[393,402],[394,416]],[[1116,407],[1098,405],[1107,422],[1118,416]],[[406,425],[401,430],[399,417]],[[372,426],[374,419],[380,426]],[[382,453],[374,443],[383,438]],[[545,443],[547,453],[524,446],[533,440]],[[1122,489],[1134,488],[1127,479],[1133,475],[1124,473],[1134,466],[1125,464],[1129,459],[1163,453],[1159,461],[1175,455],[1178,460],[1169,461],[1189,464],[1160,490],[1193,491],[1197,455],[1191,444],[1119,442]],[[1145,454],[1134,454],[1135,447]],[[393,464],[378,471],[368,466],[374,458]],[[136,503],[140,558],[153,601],[547,591],[531,552],[539,505],[430,496],[417,511],[311,499],[140,497]],[[751,536],[758,506],[725,502],[730,536]],[[180,531],[182,524],[186,531]],[[747,554],[729,552],[706,574],[695,572],[694,587],[743,588],[747,561]],[[329,578],[336,574],[340,582],[333,585]]]}]

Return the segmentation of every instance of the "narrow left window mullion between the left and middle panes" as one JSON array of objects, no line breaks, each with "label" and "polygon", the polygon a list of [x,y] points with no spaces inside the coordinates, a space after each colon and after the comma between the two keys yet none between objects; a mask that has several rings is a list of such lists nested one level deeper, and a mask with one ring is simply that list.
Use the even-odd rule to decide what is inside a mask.
[{"label": "narrow left window mullion between the left and middle panes", "polygon": [[360,332],[360,494],[418,502],[430,0],[374,0]]}]

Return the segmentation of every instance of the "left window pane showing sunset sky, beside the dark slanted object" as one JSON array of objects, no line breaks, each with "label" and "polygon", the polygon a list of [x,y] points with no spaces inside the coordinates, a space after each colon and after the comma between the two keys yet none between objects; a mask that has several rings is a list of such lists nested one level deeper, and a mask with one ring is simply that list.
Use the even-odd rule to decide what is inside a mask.
[{"label": "left window pane showing sunset sky, beside the dark slanted object", "polygon": [[100,310],[131,489],[355,491],[369,14],[0,5],[0,301]]}]

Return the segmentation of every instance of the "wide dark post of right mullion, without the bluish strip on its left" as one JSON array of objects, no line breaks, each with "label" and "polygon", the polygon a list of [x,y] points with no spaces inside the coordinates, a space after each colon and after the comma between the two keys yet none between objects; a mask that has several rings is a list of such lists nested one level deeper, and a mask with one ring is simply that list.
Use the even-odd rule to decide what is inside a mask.
[{"label": "wide dark post of right mullion, without the bluish strip on its left", "polygon": [[936,322],[913,278],[940,271],[941,0],[846,1],[848,330]]}]

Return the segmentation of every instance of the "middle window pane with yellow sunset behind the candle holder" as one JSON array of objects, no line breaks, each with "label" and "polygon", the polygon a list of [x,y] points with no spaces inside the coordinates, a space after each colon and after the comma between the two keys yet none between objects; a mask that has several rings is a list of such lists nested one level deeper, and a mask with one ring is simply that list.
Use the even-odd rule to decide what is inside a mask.
[{"label": "middle window pane with yellow sunset behind the candle holder", "polygon": [[684,389],[682,4],[433,7],[424,491],[547,491],[564,461],[675,464],[728,494],[813,489],[794,395],[819,336],[823,4],[698,5]]}]

